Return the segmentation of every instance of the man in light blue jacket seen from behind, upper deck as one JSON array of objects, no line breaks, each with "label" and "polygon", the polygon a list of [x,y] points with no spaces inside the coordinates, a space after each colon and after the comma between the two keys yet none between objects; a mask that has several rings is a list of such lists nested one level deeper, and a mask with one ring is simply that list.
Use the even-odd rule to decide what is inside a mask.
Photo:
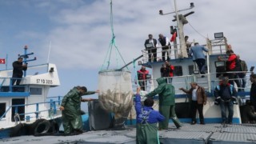
[{"label": "man in light blue jacket seen from behind, upper deck", "polygon": [[[208,52],[208,49],[206,47],[201,46],[198,44],[198,42],[194,43],[194,46],[190,48],[189,55],[193,54],[193,61],[197,63],[198,70],[200,71],[200,74],[206,74],[206,56],[203,54],[203,51]],[[202,75],[202,78],[204,76]]]}]

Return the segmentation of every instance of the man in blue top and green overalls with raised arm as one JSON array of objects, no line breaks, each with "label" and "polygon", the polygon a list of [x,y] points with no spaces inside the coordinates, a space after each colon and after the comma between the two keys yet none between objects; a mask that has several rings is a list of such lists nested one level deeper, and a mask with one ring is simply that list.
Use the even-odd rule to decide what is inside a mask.
[{"label": "man in blue top and green overalls with raised arm", "polygon": [[157,144],[158,140],[158,122],[165,118],[158,111],[154,110],[154,100],[146,98],[142,106],[140,87],[137,88],[135,95],[135,109],[137,114],[136,143],[137,144]]}]

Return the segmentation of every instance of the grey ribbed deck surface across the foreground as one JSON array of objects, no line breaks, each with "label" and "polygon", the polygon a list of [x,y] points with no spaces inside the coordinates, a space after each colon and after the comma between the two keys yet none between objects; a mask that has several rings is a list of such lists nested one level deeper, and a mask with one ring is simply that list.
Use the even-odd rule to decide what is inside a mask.
[{"label": "grey ribbed deck surface across the foreground", "polygon": [[[127,127],[125,130],[98,130],[88,131],[73,136],[21,136],[0,139],[0,143],[123,143],[134,144],[136,129]],[[168,130],[159,131],[161,143],[256,143],[256,125],[190,125],[185,123],[182,128],[176,129],[170,124]]]}]

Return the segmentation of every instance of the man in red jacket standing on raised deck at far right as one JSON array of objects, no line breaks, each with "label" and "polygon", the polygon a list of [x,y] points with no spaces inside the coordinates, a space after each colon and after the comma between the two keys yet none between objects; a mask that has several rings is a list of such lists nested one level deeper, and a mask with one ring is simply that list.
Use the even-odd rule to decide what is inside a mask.
[{"label": "man in red jacket standing on raised deck at far right", "polygon": [[226,66],[227,66],[227,71],[229,72],[228,75],[230,78],[230,84],[234,86],[234,82],[235,82],[238,86],[238,91],[240,91],[241,83],[239,82],[238,73],[236,72],[241,70],[241,67],[240,67],[241,64],[238,61],[237,55],[234,54],[233,50],[227,50],[226,54],[229,56],[226,62]]}]

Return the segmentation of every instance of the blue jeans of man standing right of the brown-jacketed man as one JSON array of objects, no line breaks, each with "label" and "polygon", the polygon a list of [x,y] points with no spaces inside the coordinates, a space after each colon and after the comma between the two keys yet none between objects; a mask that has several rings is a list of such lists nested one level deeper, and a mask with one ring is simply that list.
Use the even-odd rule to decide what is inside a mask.
[{"label": "blue jeans of man standing right of the brown-jacketed man", "polygon": [[[220,102],[221,110],[222,110],[222,122],[224,123],[232,123],[233,114],[234,114],[234,104],[230,99],[229,101],[221,101]],[[226,109],[229,111],[228,118],[226,118]]]}]

